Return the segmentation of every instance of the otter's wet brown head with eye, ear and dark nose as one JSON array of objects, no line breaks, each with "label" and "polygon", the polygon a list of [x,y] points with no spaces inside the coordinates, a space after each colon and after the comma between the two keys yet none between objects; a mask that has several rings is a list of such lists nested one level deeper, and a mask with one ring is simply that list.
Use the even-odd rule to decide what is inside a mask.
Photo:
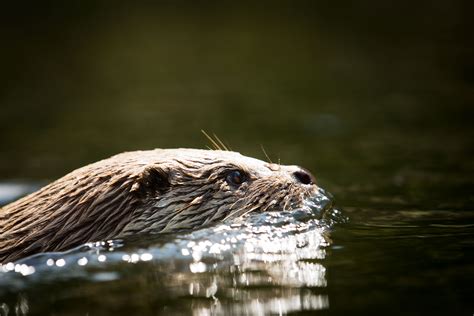
[{"label": "otter's wet brown head with eye, ear and dark nose", "polygon": [[121,235],[193,229],[250,212],[298,207],[317,191],[297,166],[236,152],[168,150],[168,160],[145,167],[133,191],[142,204]]}]

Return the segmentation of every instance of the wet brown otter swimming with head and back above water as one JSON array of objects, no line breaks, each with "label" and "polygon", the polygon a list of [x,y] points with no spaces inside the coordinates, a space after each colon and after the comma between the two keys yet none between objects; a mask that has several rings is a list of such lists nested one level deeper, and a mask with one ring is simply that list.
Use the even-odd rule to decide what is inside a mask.
[{"label": "wet brown otter swimming with head and back above water", "polygon": [[318,188],[298,166],[237,152],[155,149],[77,169],[0,209],[0,263],[91,241],[193,230],[302,206]]}]

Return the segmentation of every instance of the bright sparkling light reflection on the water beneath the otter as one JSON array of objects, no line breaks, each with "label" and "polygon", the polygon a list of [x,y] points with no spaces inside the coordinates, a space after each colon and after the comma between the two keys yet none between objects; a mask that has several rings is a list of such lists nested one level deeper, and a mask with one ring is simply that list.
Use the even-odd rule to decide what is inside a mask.
[{"label": "bright sparkling light reflection on the water beneath the otter", "polygon": [[[190,233],[157,237],[151,244],[141,238],[102,241],[8,263],[0,266],[0,295],[23,295],[63,282],[66,296],[86,300],[87,295],[71,294],[70,288],[81,284],[95,293],[99,287],[100,295],[107,293],[104,286],[119,288],[124,296],[130,290],[146,294],[152,288],[162,297],[191,301],[194,315],[326,309],[327,234],[334,222],[342,220],[321,190],[292,212],[252,214]],[[141,282],[141,287],[132,288],[130,282]]]}]

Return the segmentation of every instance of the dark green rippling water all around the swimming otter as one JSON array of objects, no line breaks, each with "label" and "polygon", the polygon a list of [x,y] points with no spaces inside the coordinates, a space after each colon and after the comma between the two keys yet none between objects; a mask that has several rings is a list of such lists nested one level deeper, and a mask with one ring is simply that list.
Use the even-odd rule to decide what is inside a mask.
[{"label": "dark green rippling water all around the swimming otter", "polygon": [[10,6],[2,202],[124,150],[205,148],[205,129],[311,170],[349,220],[276,236],[291,242],[270,258],[204,252],[194,272],[181,249],[226,230],[40,257],[2,275],[0,315],[474,312],[469,2]]}]

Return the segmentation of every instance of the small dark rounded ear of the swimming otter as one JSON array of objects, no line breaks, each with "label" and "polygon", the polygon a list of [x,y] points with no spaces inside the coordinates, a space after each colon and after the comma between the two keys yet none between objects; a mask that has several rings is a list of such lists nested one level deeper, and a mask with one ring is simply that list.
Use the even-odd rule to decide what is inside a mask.
[{"label": "small dark rounded ear of the swimming otter", "polygon": [[163,169],[152,166],[147,167],[137,177],[131,188],[131,192],[138,196],[145,197],[163,193],[170,187],[169,175]]}]

